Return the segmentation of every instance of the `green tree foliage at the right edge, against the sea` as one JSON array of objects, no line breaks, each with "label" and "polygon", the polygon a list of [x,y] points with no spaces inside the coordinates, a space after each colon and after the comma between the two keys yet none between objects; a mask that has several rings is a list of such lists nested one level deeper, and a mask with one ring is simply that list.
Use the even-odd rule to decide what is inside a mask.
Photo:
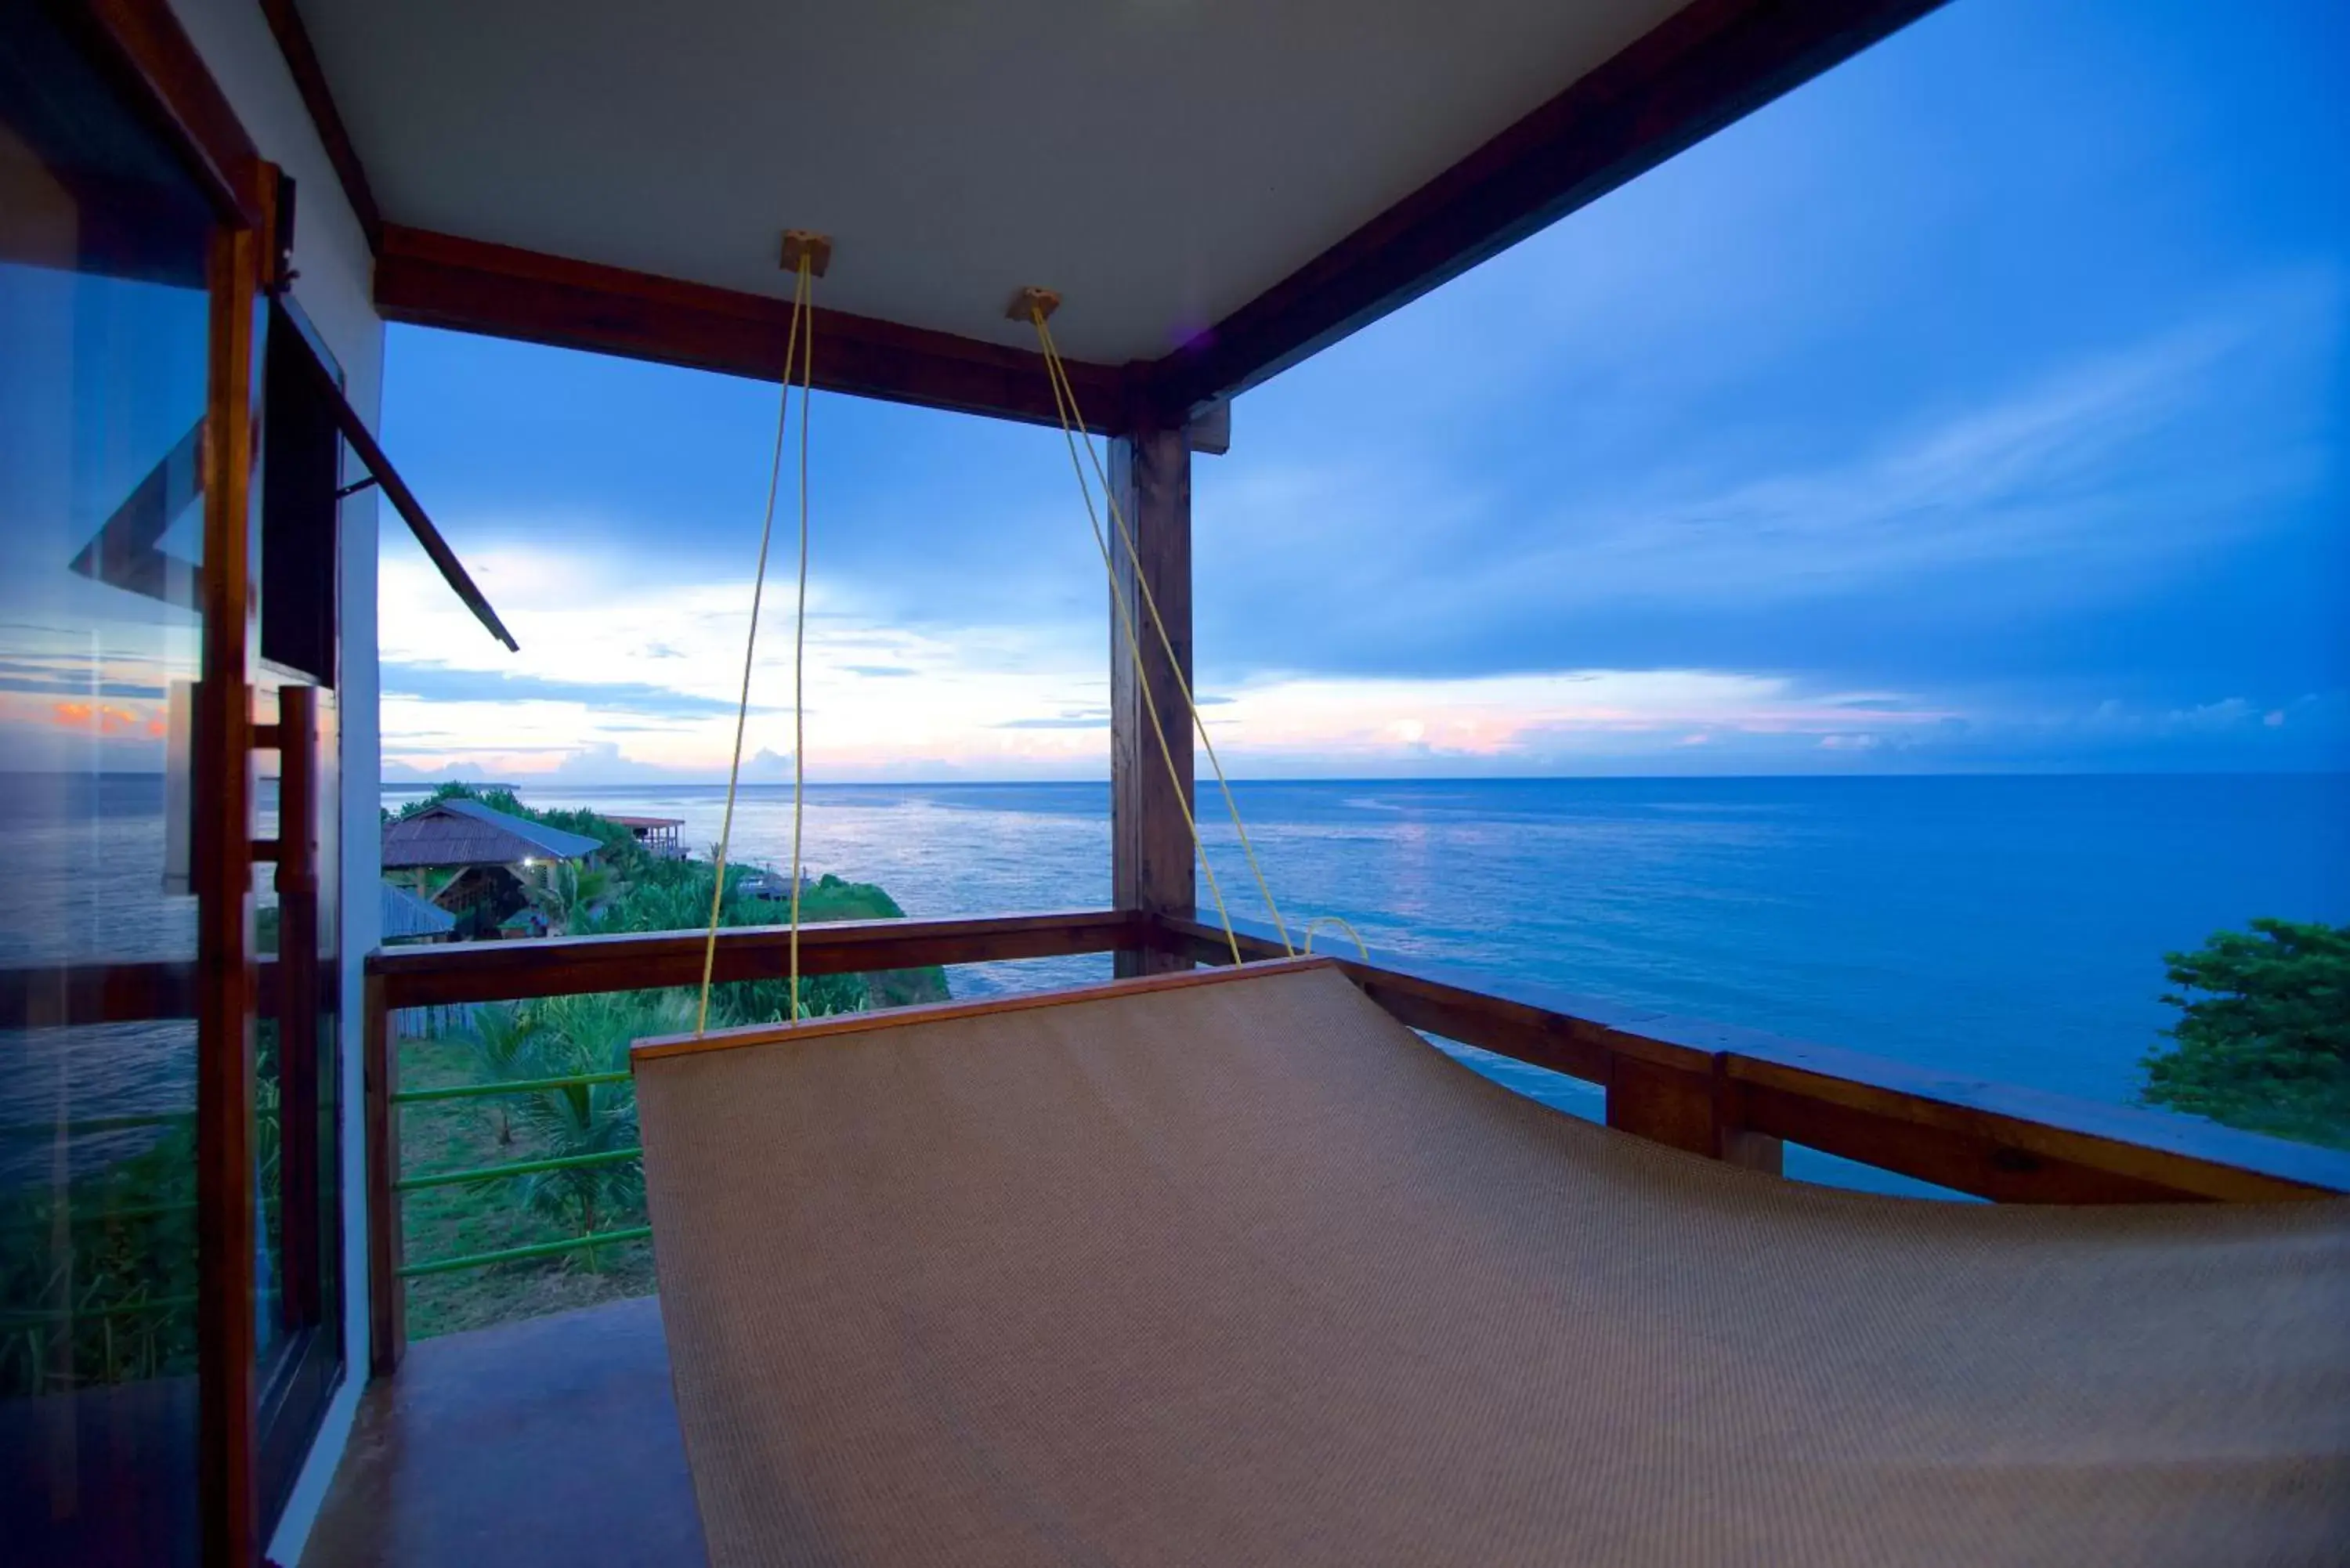
[{"label": "green tree foliage at the right edge, against the sea", "polygon": [[2256,919],[2171,952],[2148,1105],[2350,1147],[2350,926]]}]

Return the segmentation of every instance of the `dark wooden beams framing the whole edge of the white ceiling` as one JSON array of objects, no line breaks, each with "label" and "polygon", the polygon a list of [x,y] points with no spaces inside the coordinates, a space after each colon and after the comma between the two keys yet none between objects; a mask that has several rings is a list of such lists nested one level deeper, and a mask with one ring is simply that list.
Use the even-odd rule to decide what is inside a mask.
[{"label": "dark wooden beams framing the whole edge of the white ceiling", "polygon": [[[1069,364],[1102,433],[1184,423],[1556,223],[1943,0],[1692,0],[1661,26],[1203,331],[1128,367]],[[764,294],[381,223],[291,0],[263,0],[352,207],[388,320],[780,378],[790,306]],[[1053,423],[1034,353],[815,313],[818,386]]]}]

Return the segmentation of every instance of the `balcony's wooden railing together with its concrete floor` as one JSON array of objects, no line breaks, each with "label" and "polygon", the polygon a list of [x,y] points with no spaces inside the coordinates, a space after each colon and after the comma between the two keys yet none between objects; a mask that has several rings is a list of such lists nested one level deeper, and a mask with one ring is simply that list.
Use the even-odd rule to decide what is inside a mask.
[{"label": "balcony's wooden railing together with its concrete floor", "polygon": [[[778,929],[719,938],[717,980],[773,976]],[[1121,952],[1229,961],[1222,929],[1067,912],[858,922],[801,933],[808,973]],[[407,1345],[395,1180],[400,1009],[691,985],[703,938],[630,936],[378,952],[369,961],[374,1366],[310,1540],[315,1568],[696,1561],[700,1526],[658,1302],[606,1302]],[[1243,957],[1281,957],[1262,936]],[[2350,1157],[2183,1119],[1939,1077],[1878,1058],[1563,997],[1492,994],[1361,954],[1344,973],[1415,1030],[1582,1079],[1624,1133],[1777,1171],[1786,1143],[2007,1204],[2270,1201],[2350,1190]],[[463,1262],[463,1260],[458,1260]]]}]

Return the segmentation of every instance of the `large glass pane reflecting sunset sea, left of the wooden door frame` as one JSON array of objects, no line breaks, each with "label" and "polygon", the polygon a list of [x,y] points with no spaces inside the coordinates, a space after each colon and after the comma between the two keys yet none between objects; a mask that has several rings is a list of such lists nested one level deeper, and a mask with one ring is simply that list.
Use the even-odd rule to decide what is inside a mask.
[{"label": "large glass pane reflecting sunset sea, left of the wooden door frame", "polygon": [[0,9],[9,1561],[195,1552],[186,858],[209,228],[42,9]]}]

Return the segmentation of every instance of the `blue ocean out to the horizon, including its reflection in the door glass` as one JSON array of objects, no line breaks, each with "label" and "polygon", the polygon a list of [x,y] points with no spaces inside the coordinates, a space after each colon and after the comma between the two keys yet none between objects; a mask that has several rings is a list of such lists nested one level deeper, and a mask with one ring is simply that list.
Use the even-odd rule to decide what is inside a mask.
[{"label": "blue ocean out to the horizon, including its reflection in the door glass", "polygon": [[[1241,783],[1292,926],[1499,985],[1535,983],[1868,1051],[2030,1088],[2129,1103],[2171,1018],[2162,954],[2258,914],[2350,922],[2350,776],[1572,778]],[[385,802],[411,799],[388,790]],[[724,788],[524,785],[533,806],[684,818],[719,837]],[[9,820],[16,912],[0,961],[150,957],[186,943],[150,877],[160,802],[110,788],[106,820]],[[153,820],[150,820],[153,818]],[[1234,914],[1264,922],[1213,788],[1210,863]],[[790,788],[743,790],[736,858],[787,865]],[[916,917],[1100,907],[1109,790],[813,785],[806,865],[879,882]],[[54,879],[56,886],[31,886]],[[179,900],[172,900],[174,905]],[[1213,912],[1206,893],[1203,912]],[[59,919],[63,914],[63,919]],[[103,931],[103,936],[101,936]],[[70,936],[68,936],[70,933]],[[1323,936],[1323,943],[1344,936]],[[968,966],[959,994],[1107,976],[1107,957]],[[155,1067],[176,1030],[82,1037],[75,1114],[181,1098]],[[153,1034],[153,1039],[148,1039]],[[33,1063],[0,1060],[0,1079]],[[35,1048],[35,1056],[45,1056]],[[1476,1060],[1476,1058],[1473,1058]],[[1579,1114],[1598,1095],[1480,1060]],[[47,1077],[47,1074],[40,1074]],[[164,1077],[179,1077],[169,1072]],[[1807,1166],[1824,1171],[1824,1166]]]}]

